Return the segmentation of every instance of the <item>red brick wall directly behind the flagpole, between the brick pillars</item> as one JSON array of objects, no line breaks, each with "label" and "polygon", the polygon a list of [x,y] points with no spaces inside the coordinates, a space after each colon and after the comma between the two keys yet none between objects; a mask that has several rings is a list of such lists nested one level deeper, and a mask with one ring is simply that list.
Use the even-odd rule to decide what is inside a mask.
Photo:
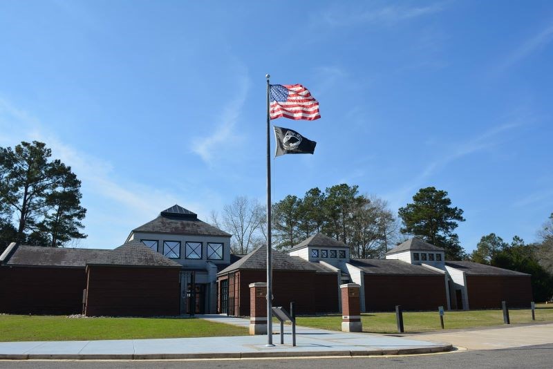
[{"label": "red brick wall directly behind the flagpole, between the brick pillars", "polygon": [[[221,278],[221,277],[220,277]],[[236,314],[250,316],[250,283],[266,282],[263,270],[241,270],[236,272]],[[274,271],[273,306],[290,309],[295,302],[297,314],[316,312],[338,312],[337,274],[315,272]]]}]

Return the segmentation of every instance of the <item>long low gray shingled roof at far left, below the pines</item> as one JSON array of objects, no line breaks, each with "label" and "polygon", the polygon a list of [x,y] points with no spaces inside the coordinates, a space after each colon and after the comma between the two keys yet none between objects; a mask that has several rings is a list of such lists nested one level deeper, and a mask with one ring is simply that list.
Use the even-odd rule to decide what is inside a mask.
[{"label": "long low gray shingled roof at far left, below the pines", "polygon": [[112,250],[65,249],[59,247],[15,246],[8,261],[3,265],[44,267],[85,267]]}]

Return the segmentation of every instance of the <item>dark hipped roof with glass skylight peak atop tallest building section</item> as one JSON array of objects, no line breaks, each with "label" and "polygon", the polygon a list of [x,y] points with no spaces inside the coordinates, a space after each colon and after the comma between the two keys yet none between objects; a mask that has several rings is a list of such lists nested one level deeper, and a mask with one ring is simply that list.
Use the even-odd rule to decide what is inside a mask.
[{"label": "dark hipped roof with glass skylight peak atop tallest building section", "polygon": [[174,205],[161,212],[158,218],[133,229],[133,232],[187,234],[230,237],[225,231],[199,220],[191,211]]}]

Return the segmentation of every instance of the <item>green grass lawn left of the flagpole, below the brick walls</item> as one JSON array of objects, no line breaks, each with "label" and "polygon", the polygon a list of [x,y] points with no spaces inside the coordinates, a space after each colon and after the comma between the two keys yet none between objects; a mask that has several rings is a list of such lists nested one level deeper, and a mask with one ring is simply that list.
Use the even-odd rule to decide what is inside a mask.
[{"label": "green grass lawn left of the flagpole, below the brick walls", "polygon": [[203,319],[0,315],[0,341],[81,341],[245,336],[247,328]]}]

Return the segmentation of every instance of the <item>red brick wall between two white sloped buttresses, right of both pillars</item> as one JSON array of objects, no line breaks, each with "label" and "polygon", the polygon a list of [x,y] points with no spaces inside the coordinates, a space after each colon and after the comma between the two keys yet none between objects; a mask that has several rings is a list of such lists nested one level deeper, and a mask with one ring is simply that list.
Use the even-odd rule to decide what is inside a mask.
[{"label": "red brick wall between two white sloped buttresses, right of both pillars", "polygon": [[447,306],[444,276],[365,274],[365,310],[436,310]]}]

